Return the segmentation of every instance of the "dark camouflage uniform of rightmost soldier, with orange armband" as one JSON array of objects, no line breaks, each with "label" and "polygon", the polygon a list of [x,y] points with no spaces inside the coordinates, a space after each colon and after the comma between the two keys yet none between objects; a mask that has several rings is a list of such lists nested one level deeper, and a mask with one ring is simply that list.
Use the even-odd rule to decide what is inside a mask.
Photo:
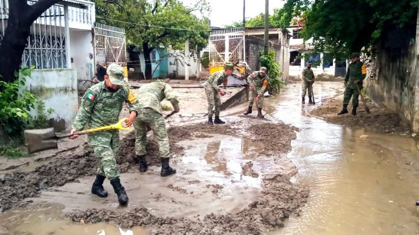
[{"label": "dark camouflage uniform of rightmost soldier, with orange armband", "polygon": [[360,93],[358,89],[355,87],[354,81],[360,80],[358,86],[362,89],[362,81],[367,76],[367,67],[361,61],[353,62],[349,65],[348,72],[345,76],[345,83],[347,83],[347,87],[344,93],[344,105],[348,105],[349,101],[352,97],[352,105],[354,107],[358,107],[358,98]]}]

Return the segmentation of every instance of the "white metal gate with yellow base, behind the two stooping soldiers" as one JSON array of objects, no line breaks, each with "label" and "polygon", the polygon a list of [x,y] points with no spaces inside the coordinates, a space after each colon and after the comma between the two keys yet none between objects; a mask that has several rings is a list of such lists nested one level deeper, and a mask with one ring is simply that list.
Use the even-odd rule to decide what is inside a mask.
[{"label": "white metal gate with yellow base, behind the two stooping soldiers", "polygon": [[211,66],[245,61],[245,33],[243,28],[211,31],[209,60]]}]

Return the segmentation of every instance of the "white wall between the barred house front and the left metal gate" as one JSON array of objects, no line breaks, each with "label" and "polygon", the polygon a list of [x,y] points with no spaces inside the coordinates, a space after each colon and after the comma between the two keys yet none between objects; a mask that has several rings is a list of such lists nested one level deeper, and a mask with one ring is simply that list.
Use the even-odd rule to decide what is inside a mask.
[{"label": "white wall between the barred house front and the left metal gate", "polygon": [[[94,52],[92,33],[89,30],[70,30],[71,68],[77,70],[77,80],[91,80],[94,76]],[[85,91],[91,86],[89,82],[79,82],[77,89]]]}]

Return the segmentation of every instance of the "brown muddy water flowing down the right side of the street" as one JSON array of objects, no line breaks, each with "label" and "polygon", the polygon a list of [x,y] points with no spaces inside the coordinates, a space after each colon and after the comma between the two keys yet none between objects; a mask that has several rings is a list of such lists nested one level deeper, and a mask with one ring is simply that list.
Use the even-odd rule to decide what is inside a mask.
[{"label": "brown muddy water flowing down the right side of the street", "polygon": [[[340,83],[316,83],[317,105]],[[301,216],[271,235],[419,234],[419,151],[406,136],[366,133],[306,115],[300,86],[266,102],[274,118],[300,128],[288,156],[298,173],[293,180],[310,189]],[[306,98],[307,99],[307,98]],[[362,134],[369,135],[362,139]]]}]

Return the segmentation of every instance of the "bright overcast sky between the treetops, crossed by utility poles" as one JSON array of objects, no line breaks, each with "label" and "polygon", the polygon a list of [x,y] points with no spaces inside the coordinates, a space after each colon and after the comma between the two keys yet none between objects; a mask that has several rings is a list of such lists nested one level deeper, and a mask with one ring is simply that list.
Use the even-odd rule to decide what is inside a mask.
[{"label": "bright overcast sky between the treetops, crossed by utility poles", "polygon": [[[182,0],[186,5],[196,3],[196,0]],[[211,26],[222,27],[234,21],[243,20],[243,0],[208,0],[211,4]],[[281,8],[283,0],[269,0],[269,13],[274,8]],[[264,0],[246,0],[246,18],[265,12]]]}]

